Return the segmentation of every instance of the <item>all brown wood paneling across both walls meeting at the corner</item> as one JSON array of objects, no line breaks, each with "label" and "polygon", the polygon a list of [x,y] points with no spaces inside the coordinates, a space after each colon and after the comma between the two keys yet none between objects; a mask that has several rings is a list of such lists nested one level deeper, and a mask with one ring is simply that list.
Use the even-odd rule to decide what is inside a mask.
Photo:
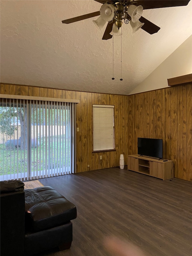
[{"label": "all brown wood paneling across both walls meeting at the corner", "polygon": [[[126,165],[127,155],[137,154],[137,137],[148,137],[163,139],[163,158],[173,160],[174,177],[192,181],[192,84],[129,96],[7,84],[0,92],[79,99],[76,172],[119,166],[120,154]],[[115,106],[116,151],[92,153],[92,104]]]}]

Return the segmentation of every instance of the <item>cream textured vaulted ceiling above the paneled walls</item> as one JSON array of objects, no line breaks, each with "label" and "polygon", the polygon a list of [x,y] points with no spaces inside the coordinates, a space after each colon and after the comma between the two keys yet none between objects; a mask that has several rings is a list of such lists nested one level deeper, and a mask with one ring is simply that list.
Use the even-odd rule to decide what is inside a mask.
[{"label": "cream textured vaulted ceiling above the paneled walls", "polygon": [[192,34],[192,1],[144,10],[161,29],[133,34],[123,24],[122,38],[114,37],[112,80],[113,39],[102,40],[97,17],[61,23],[100,7],[93,0],[1,1],[1,83],[127,95]]}]

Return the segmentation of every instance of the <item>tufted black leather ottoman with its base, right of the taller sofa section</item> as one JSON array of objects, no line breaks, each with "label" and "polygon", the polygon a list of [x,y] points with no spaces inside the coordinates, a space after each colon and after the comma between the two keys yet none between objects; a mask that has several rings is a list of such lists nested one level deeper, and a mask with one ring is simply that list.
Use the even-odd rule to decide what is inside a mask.
[{"label": "tufted black leather ottoman with its base, right of the taller sofa section", "polygon": [[51,187],[25,190],[25,255],[70,248],[76,206]]}]

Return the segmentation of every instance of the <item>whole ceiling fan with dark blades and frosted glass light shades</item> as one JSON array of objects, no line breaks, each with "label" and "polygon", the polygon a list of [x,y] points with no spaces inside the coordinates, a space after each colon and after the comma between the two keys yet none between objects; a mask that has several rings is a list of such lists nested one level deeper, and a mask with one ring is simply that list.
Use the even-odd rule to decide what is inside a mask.
[{"label": "whole ceiling fan with dark blades and frosted glass light shades", "polygon": [[149,34],[157,33],[160,27],[156,26],[149,20],[141,16],[143,9],[166,8],[173,6],[184,6],[190,0],[94,0],[102,4],[100,11],[81,15],[67,20],[62,20],[62,23],[69,24],[79,20],[85,20],[91,17],[100,17],[93,22],[101,30],[106,22],[103,40],[108,40],[113,35],[121,35],[121,28],[124,20],[126,24],[130,23],[133,32],[138,29],[143,29]]}]

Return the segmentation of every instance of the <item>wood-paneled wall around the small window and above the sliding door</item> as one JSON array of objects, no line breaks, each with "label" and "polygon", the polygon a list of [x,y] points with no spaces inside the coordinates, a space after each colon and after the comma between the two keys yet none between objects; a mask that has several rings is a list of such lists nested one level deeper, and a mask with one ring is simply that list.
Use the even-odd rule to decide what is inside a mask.
[{"label": "wood-paneled wall around the small window and above the sliding door", "polygon": [[[79,99],[80,103],[76,105],[76,127],[79,127],[79,132],[76,132],[76,172],[119,166],[120,154],[124,155],[125,165],[127,164],[128,96],[8,84],[1,84],[0,89],[1,94]],[[116,151],[92,153],[93,104],[115,106]],[[100,155],[102,155],[102,160],[100,160]]]}]

